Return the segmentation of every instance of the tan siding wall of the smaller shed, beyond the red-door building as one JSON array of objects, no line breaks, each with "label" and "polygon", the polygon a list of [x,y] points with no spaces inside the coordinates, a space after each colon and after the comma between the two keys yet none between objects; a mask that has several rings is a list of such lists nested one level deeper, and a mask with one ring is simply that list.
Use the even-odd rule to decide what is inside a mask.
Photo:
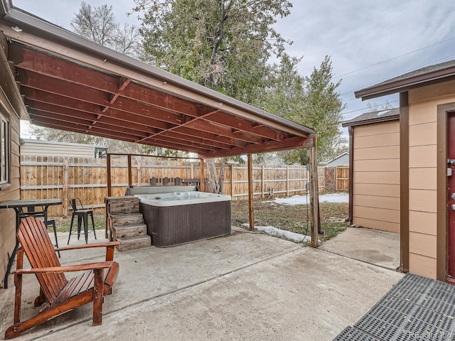
[{"label": "tan siding wall of the smaller shed, beyond the red-door building", "polygon": [[400,231],[400,123],[355,126],[353,224]]}]

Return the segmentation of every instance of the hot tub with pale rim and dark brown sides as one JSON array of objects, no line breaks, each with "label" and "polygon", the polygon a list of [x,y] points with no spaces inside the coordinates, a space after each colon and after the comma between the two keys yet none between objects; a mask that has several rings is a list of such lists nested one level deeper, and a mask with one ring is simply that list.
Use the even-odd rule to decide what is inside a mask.
[{"label": "hot tub with pale rim and dark brown sides", "polygon": [[230,195],[178,191],[134,196],[156,247],[230,234]]}]

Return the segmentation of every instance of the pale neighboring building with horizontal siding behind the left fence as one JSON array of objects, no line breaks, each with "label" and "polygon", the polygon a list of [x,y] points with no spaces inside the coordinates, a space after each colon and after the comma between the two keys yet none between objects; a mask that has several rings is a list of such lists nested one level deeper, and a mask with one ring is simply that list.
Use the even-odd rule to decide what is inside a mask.
[{"label": "pale neighboring building with horizontal siding behind the left fence", "polygon": [[100,158],[106,152],[106,147],[93,144],[70,144],[68,142],[21,139],[21,156]]}]

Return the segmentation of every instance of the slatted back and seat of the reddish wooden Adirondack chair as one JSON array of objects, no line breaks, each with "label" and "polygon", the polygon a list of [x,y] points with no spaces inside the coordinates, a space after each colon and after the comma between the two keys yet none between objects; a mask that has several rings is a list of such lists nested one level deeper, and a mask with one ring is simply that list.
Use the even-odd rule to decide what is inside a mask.
[{"label": "slatted back and seat of the reddish wooden Adirondack chair", "polygon": [[[35,217],[23,219],[17,237],[32,268],[60,266],[48,231],[41,220]],[[63,273],[36,274],[36,278],[48,302],[52,302],[68,282]]]}]

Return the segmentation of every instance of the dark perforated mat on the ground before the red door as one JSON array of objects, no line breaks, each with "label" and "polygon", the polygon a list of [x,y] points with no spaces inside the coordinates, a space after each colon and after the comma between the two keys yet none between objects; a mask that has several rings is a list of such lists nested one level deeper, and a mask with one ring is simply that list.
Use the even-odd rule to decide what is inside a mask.
[{"label": "dark perforated mat on the ground before the red door", "polygon": [[455,340],[455,286],[406,274],[333,341]]}]

